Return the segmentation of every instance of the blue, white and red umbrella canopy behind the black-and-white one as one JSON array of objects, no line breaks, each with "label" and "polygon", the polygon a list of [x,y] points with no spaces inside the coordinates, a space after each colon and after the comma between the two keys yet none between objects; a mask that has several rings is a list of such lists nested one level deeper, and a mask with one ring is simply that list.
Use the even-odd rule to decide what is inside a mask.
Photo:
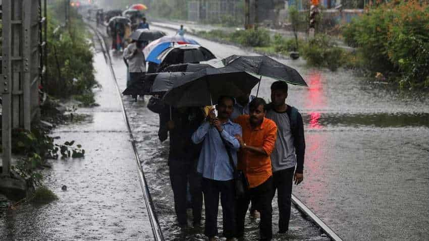
[{"label": "blue, white and red umbrella canopy behind the black-and-white one", "polygon": [[[163,44],[164,43],[164,44]],[[167,48],[171,47],[174,44],[196,44],[199,43],[191,38],[185,38],[183,36],[164,36],[150,42],[143,49],[144,56],[146,56],[146,61],[149,56],[155,59],[160,53],[162,53]]]}]

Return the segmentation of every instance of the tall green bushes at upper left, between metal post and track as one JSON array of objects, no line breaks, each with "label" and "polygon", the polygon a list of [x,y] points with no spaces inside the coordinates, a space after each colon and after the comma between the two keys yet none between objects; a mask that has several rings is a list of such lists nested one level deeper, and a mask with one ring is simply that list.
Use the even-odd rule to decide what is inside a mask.
[{"label": "tall green bushes at upper left, between metal post and track", "polygon": [[49,95],[69,98],[92,92],[96,81],[90,35],[75,9],[70,9],[68,25],[60,27],[63,2],[51,5],[48,12],[48,72],[43,87]]}]

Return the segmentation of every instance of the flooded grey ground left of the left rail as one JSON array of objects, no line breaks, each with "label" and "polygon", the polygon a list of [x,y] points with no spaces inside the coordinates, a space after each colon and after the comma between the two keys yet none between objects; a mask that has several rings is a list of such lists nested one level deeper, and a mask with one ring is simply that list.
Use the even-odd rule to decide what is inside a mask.
[{"label": "flooded grey ground left of the left rail", "polygon": [[119,93],[99,47],[95,51],[100,106],[78,109],[81,122],[52,133],[59,143],[81,144],[85,157],[51,161],[44,185],[59,199],[2,213],[0,240],[153,239]]}]

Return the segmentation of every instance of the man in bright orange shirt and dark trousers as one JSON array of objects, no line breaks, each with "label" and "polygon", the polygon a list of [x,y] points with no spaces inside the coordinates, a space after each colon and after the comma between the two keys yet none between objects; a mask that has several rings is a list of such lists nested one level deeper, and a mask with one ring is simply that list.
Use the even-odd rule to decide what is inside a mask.
[{"label": "man in bright orange shirt and dark trousers", "polygon": [[260,212],[259,240],[271,240],[273,172],[270,155],[274,150],[277,126],[265,118],[266,102],[261,98],[249,104],[249,114],[240,115],[235,122],[243,130],[243,137],[236,136],[240,143],[238,169],[245,173],[249,184],[246,193],[237,200],[237,237],[244,234],[244,220],[250,201]]}]

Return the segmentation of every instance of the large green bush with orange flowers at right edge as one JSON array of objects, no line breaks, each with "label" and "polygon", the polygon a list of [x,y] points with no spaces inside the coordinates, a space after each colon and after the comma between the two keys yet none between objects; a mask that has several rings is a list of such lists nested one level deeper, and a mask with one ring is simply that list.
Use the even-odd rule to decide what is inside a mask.
[{"label": "large green bush with orange flowers at right edge", "polygon": [[402,88],[429,87],[429,5],[393,1],[368,9],[343,29],[345,41],[359,47],[365,67],[392,74]]}]

